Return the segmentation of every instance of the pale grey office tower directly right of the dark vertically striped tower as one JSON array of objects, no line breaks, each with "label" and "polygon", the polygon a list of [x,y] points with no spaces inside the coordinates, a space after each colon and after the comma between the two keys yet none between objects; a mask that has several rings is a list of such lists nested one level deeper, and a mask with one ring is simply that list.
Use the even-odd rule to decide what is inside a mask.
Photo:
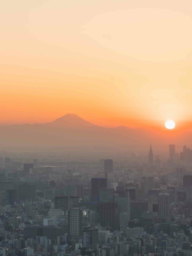
[{"label": "pale grey office tower directly right of the dark vertically striped tower", "polygon": [[115,202],[118,203],[118,221],[120,221],[120,214],[126,212],[128,215],[128,221],[130,220],[130,197],[129,192],[127,195],[115,195]]}]

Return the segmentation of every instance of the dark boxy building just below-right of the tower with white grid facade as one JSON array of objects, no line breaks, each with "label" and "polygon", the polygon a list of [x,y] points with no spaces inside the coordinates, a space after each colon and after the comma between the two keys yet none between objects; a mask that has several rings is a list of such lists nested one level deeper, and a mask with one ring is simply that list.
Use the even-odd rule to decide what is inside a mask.
[{"label": "dark boxy building just below-right of the tower with white grid facade", "polygon": [[84,228],[83,229],[83,247],[90,248],[93,244],[98,243],[98,229]]}]

